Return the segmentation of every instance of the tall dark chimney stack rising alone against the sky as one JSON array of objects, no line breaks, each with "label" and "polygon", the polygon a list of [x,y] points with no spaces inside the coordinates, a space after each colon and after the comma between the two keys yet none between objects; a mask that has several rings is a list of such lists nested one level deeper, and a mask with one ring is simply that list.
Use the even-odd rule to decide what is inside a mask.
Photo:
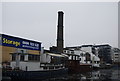
[{"label": "tall dark chimney stack rising alone against the sky", "polygon": [[63,52],[64,40],[63,40],[63,12],[58,12],[58,28],[57,28],[57,51]]}]

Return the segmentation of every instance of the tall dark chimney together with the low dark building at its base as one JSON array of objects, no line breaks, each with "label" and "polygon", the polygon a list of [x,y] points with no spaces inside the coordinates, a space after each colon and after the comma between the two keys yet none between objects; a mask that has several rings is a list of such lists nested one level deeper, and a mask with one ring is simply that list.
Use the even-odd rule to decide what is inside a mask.
[{"label": "tall dark chimney together with the low dark building at its base", "polygon": [[53,53],[63,53],[64,48],[64,26],[63,26],[63,11],[58,12],[58,25],[57,25],[57,46],[50,47],[50,51]]}]

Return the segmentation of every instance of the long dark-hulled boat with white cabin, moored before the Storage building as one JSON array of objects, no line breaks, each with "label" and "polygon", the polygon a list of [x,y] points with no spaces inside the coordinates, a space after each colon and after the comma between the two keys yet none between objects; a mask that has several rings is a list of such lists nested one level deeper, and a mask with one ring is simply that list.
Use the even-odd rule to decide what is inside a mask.
[{"label": "long dark-hulled boat with white cabin, moored before the Storage building", "polygon": [[[58,54],[44,54],[50,56],[51,58],[64,58],[62,55]],[[48,58],[44,58],[48,60]],[[52,59],[50,59],[52,60]],[[6,67],[2,70],[3,77],[10,77],[11,80],[44,80],[48,78],[54,78],[59,76],[64,76],[68,74],[68,69],[64,64],[55,64],[49,62],[42,63],[40,62],[21,62],[19,61],[19,67]],[[11,62],[11,65],[14,66],[16,62]],[[26,63],[26,64],[25,64]],[[22,68],[20,68],[22,66]],[[28,66],[28,67],[25,67]]]}]

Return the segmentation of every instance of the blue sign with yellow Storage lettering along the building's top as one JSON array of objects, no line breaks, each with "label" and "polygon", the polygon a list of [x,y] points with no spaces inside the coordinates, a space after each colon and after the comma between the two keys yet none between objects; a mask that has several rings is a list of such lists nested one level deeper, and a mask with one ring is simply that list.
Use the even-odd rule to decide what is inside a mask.
[{"label": "blue sign with yellow Storage lettering along the building's top", "polygon": [[0,35],[0,42],[3,46],[30,49],[30,50],[39,50],[39,51],[41,50],[40,42],[8,36],[5,34]]}]

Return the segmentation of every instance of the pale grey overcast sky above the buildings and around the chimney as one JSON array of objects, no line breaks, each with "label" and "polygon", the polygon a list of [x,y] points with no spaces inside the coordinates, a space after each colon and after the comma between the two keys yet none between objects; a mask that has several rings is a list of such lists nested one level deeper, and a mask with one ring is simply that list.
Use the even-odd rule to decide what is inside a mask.
[{"label": "pale grey overcast sky above the buildings and around the chimney", "polygon": [[2,30],[13,36],[56,45],[57,14],[64,12],[64,47],[118,46],[117,2],[16,2],[2,4]]}]

